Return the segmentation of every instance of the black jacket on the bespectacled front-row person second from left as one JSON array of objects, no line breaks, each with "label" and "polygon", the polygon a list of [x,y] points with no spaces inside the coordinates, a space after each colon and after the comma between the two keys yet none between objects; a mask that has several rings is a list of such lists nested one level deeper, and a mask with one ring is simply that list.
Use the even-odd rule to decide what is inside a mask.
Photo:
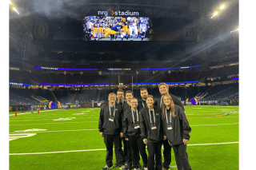
[{"label": "black jacket on the bespectacled front-row person second from left", "polygon": [[[138,110],[138,109],[137,109]],[[132,116],[132,110],[131,109],[126,109],[126,112],[124,113],[123,116],[123,121],[122,121],[122,130],[123,130],[123,136],[127,138],[128,136],[140,136],[141,135],[141,129],[140,128],[134,128],[134,120],[135,123],[137,120],[137,113],[134,112],[134,119]],[[138,124],[139,124],[139,119],[140,119],[140,114],[138,112]]]}]

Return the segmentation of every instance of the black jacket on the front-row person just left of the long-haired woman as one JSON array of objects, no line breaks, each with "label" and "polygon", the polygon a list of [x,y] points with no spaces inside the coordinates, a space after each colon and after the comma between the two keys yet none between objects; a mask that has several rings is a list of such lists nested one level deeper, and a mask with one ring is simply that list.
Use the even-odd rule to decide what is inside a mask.
[{"label": "black jacket on the front-row person just left of the long-haired woman", "polygon": [[[147,139],[148,142],[160,142],[163,140],[164,131],[162,125],[162,117],[160,113],[160,109],[157,106],[154,106],[154,114],[155,114],[155,123],[156,129],[151,129],[150,125],[150,115],[149,109],[142,109],[139,117],[139,126],[141,128],[141,137],[142,139]],[[151,117],[153,122],[153,117]]]}]

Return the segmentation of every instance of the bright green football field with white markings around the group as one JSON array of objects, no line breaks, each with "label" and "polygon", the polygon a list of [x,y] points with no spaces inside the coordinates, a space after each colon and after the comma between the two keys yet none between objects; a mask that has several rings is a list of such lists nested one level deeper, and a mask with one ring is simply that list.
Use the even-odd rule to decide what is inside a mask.
[{"label": "bright green football field with white markings around the group", "polygon": [[[238,169],[239,108],[185,109],[192,128],[187,146],[191,168]],[[106,165],[106,146],[98,132],[99,111],[48,110],[18,113],[17,117],[10,113],[10,169],[100,170]],[[177,169],[173,150],[170,166]]]}]

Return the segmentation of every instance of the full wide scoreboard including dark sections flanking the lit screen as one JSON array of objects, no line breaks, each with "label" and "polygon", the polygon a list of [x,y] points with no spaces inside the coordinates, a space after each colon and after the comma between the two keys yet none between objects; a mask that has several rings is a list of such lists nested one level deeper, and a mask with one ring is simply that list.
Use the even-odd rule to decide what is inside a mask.
[{"label": "full wide scoreboard including dark sections flanking the lit screen", "polygon": [[50,22],[54,40],[197,42],[197,25],[186,18],[86,16]]}]

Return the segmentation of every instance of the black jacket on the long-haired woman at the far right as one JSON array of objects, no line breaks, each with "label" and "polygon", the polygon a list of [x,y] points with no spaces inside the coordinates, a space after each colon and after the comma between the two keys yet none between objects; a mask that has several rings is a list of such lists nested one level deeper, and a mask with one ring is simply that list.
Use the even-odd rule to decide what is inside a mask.
[{"label": "black jacket on the long-haired woman at the far right", "polygon": [[191,128],[189,122],[186,119],[186,114],[183,112],[182,108],[178,105],[175,105],[175,117],[172,117],[170,114],[170,110],[167,110],[167,118],[168,122],[170,122],[171,117],[171,125],[173,129],[167,129],[166,118],[163,118],[163,114],[161,112],[161,117],[163,121],[164,131],[167,136],[167,139],[170,141],[171,145],[183,144],[183,139],[190,140],[190,132]]}]

